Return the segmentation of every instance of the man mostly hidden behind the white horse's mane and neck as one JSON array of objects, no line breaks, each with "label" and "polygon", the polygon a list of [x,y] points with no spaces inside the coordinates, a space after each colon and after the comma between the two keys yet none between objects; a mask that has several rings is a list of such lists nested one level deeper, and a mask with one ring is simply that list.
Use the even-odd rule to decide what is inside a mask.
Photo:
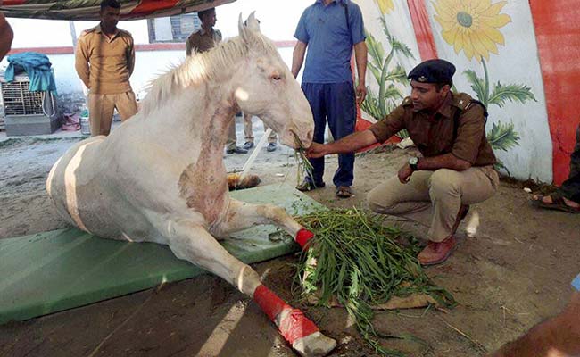
[{"label": "man mostly hidden behind the white horse's mane and neck", "polygon": [[[186,41],[186,54],[202,53],[210,50],[221,42],[221,32],[219,29],[213,29],[218,20],[215,8],[197,12],[199,20],[202,21],[202,27],[189,35]],[[226,142],[226,152],[228,154],[246,154],[248,151],[237,146],[236,138],[236,120],[228,129],[228,141]]]}]

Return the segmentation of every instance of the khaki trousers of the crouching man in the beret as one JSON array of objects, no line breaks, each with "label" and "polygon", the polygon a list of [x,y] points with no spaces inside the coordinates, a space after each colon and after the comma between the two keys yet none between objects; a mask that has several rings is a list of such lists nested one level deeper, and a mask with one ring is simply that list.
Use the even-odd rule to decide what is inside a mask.
[{"label": "khaki trousers of the crouching man in the beret", "polygon": [[372,211],[394,216],[432,207],[428,237],[441,242],[452,234],[461,204],[484,202],[497,191],[499,182],[491,165],[464,171],[421,170],[414,172],[406,184],[396,176],[386,180],[369,192],[367,201]]}]

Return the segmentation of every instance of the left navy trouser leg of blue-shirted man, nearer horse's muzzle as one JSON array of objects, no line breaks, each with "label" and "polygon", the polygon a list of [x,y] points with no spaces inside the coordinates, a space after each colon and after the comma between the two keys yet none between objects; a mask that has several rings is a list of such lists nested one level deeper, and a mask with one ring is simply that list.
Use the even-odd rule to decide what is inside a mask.
[{"label": "left navy trouser leg of blue-shirted man, nearer horse's muzzle", "polygon": [[[311,104],[312,117],[314,118],[314,137],[315,143],[324,144],[324,131],[327,127],[326,104],[324,103],[324,88],[326,84],[319,83],[302,83],[302,92],[306,96],[308,103]],[[316,187],[324,184],[324,157],[310,159],[312,164],[311,179]]]}]

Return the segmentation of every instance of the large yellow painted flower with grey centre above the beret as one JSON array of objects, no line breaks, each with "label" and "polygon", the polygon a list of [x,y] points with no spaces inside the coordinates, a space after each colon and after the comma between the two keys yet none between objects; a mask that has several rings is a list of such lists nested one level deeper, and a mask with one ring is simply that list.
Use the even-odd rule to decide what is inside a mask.
[{"label": "large yellow painted flower with grey centre above the beret", "polygon": [[500,13],[507,3],[436,0],[434,18],[443,28],[443,39],[453,46],[456,54],[463,51],[469,60],[474,57],[477,61],[489,60],[489,53],[498,54],[497,45],[505,44],[499,29],[511,22],[510,15]]}]

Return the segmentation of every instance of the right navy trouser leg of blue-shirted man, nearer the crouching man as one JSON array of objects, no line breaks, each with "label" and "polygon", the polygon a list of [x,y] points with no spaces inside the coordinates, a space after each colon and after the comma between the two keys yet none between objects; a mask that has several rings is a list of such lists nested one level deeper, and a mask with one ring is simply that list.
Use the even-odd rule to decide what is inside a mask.
[{"label": "right navy trouser leg of blue-shirted man, nearer the crouching man", "polygon": [[[351,82],[328,84],[325,93],[328,127],[335,140],[354,132],[356,102]],[[354,153],[338,155],[338,169],[333,182],[336,187],[351,187],[354,179]]]}]

